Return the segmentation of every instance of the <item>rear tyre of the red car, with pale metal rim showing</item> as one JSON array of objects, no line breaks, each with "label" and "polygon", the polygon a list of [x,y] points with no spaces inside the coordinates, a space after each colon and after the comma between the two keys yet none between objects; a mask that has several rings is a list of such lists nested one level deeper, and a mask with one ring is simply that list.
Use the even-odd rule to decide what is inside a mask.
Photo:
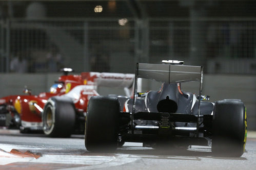
[{"label": "rear tyre of the red car, with pale metal rim showing", "polygon": [[74,104],[67,98],[54,96],[45,105],[42,114],[43,131],[50,137],[69,137],[74,131]]}]

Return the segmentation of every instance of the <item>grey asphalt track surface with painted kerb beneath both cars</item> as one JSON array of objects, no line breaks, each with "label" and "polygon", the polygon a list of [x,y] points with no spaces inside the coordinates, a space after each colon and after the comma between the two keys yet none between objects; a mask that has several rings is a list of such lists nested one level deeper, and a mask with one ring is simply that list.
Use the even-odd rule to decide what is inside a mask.
[{"label": "grey asphalt track surface with painted kerb beneath both cars", "polygon": [[256,169],[256,132],[248,132],[246,152],[240,158],[214,157],[210,147],[154,150],[131,142],[114,153],[91,153],[83,135],[71,137],[0,130],[0,169]]}]

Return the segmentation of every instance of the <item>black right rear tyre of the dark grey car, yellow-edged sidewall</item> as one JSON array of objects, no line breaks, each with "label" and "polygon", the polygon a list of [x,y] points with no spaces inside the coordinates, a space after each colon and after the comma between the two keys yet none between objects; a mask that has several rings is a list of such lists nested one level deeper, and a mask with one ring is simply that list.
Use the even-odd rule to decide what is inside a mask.
[{"label": "black right rear tyre of the dark grey car, yellow-edged sidewall", "polygon": [[213,112],[212,153],[240,157],[247,139],[246,108],[238,100],[217,101]]}]

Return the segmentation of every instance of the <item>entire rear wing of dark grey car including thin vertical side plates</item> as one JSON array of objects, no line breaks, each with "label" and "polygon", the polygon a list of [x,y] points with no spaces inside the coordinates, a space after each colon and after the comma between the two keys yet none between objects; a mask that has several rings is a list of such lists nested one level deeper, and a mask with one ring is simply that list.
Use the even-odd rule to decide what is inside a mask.
[{"label": "entire rear wing of dark grey car including thin vertical side plates", "polygon": [[[181,82],[190,82],[190,81],[199,81],[200,90],[199,96],[202,93],[202,79],[203,79],[203,68],[202,66],[190,66],[183,65],[183,62],[175,63],[170,60],[170,63],[165,64],[147,64],[147,63],[137,63],[135,70],[135,79],[134,79],[134,95],[133,95],[133,106],[132,106],[132,134],[134,133],[134,113],[135,113],[135,103],[137,97],[137,79],[151,79],[158,82],[164,83],[181,83]],[[199,100],[199,111],[196,121],[196,135],[199,136],[199,122],[200,122],[200,100]]]}]

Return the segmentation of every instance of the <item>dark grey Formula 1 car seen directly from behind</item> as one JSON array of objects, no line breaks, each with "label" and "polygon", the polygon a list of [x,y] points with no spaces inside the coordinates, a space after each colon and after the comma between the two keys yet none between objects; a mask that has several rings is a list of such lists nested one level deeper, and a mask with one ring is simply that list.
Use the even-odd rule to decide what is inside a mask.
[{"label": "dark grey Formula 1 car seen directly from behind", "polygon": [[[139,78],[162,82],[160,90],[137,92]],[[114,151],[124,142],[152,148],[211,146],[212,153],[240,157],[247,139],[246,107],[241,100],[208,102],[201,95],[202,66],[164,60],[137,63],[133,98],[93,96],[89,100],[85,147]],[[181,90],[181,83],[199,81],[199,96]]]}]

